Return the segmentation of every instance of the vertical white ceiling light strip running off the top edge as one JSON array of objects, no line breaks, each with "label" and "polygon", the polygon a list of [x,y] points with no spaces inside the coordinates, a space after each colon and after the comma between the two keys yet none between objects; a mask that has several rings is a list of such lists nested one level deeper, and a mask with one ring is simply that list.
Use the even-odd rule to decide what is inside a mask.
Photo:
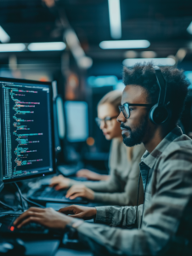
[{"label": "vertical white ceiling light strip running off the top edge", "polygon": [[110,15],[110,36],[114,39],[121,38],[121,10],[120,0],[108,0]]}]

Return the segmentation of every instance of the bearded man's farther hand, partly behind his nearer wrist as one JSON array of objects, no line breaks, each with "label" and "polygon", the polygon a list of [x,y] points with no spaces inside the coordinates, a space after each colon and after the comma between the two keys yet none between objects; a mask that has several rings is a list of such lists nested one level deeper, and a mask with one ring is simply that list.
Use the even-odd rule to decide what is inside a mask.
[{"label": "bearded man's farther hand, partly behind his nearer wrist", "polygon": [[96,216],[97,210],[94,207],[71,206],[61,208],[59,212],[67,215],[71,214],[71,217],[73,218],[91,219]]}]

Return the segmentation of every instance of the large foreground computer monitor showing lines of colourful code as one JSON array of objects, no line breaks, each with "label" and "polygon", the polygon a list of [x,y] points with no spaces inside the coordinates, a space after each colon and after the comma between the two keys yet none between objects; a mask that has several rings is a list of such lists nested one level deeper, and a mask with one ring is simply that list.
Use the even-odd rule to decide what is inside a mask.
[{"label": "large foreground computer monitor showing lines of colourful code", "polygon": [[0,78],[3,183],[55,172],[51,83]]}]

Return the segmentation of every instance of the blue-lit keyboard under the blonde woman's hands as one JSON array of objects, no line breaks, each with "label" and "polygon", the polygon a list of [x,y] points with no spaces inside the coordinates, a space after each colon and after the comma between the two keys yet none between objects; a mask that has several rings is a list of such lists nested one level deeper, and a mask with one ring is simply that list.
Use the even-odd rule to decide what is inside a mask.
[{"label": "blue-lit keyboard under the blonde woman's hands", "polygon": [[48,185],[42,185],[39,189],[33,189],[29,192],[28,197],[32,201],[51,201],[51,202],[66,202],[66,203],[81,203],[81,204],[87,204],[88,201],[82,199],[82,197],[76,197],[76,199],[69,199],[66,198],[67,189],[65,190],[55,190],[52,187],[48,187]]}]

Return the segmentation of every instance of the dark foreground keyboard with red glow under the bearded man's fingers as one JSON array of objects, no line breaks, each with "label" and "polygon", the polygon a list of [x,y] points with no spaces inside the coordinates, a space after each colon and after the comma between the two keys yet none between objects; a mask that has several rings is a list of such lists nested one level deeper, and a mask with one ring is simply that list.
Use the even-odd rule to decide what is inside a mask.
[{"label": "dark foreground keyboard with red glow under the bearded man's fingers", "polygon": [[20,215],[17,214],[0,214],[0,234],[1,233],[13,233],[13,234],[48,234],[49,230],[41,224],[30,223],[25,224],[20,229],[14,227],[14,220]]}]

